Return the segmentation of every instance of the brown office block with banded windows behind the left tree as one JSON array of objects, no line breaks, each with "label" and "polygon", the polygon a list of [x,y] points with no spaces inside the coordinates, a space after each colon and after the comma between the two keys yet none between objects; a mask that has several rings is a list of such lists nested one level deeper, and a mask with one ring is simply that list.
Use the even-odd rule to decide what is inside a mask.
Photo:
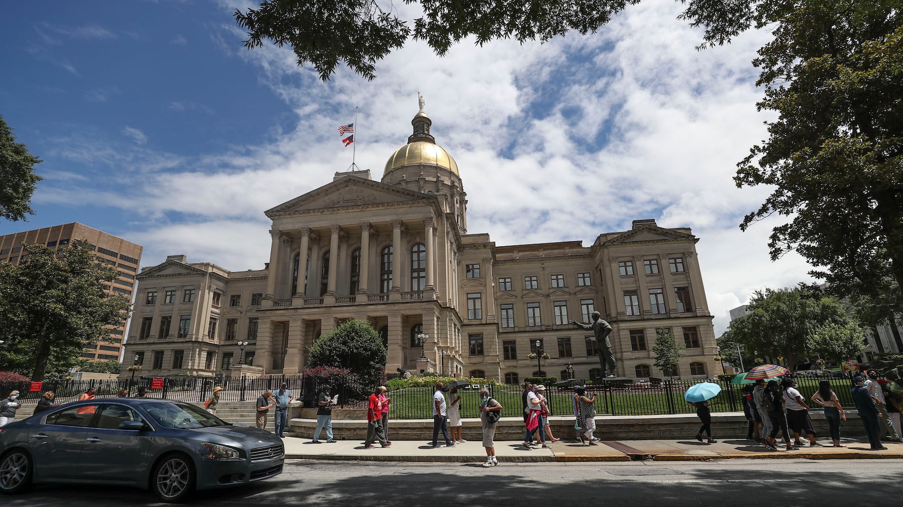
[{"label": "brown office block with banded windows behind the left tree", "polygon": [[[22,255],[22,244],[44,244],[50,248],[59,249],[76,241],[92,244],[102,263],[116,266],[119,278],[107,287],[107,291],[121,294],[128,300],[132,300],[132,293],[135,290],[135,273],[141,263],[143,247],[78,222],[0,235],[0,262],[21,263],[24,261],[27,256]],[[81,357],[91,361],[119,361],[127,324],[126,321],[120,327],[111,327],[110,337],[96,345],[86,347]]]}]

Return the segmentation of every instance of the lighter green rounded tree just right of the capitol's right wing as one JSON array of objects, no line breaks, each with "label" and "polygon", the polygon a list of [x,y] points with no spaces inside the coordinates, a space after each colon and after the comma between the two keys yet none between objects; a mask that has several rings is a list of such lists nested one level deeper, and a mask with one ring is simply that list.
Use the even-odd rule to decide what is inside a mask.
[{"label": "lighter green rounded tree just right of the capitol's right wing", "polygon": [[861,327],[842,302],[804,285],[757,290],[747,308],[750,313],[731,321],[719,341],[740,344],[745,357],[783,358],[792,369],[806,356],[839,361],[859,355],[864,346]]}]

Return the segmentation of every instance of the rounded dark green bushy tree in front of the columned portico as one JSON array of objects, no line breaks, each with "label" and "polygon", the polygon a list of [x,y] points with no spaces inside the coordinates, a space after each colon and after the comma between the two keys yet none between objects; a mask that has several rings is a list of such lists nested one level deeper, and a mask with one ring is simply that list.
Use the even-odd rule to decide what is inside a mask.
[{"label": "rounded dark green bushy tree in front of the columned portico", "polygon": [[347,368],[364,385],[374,387],[382,382],[385,374],[386,346],[376,329],[352,319],[313,342],[307,366]]}]

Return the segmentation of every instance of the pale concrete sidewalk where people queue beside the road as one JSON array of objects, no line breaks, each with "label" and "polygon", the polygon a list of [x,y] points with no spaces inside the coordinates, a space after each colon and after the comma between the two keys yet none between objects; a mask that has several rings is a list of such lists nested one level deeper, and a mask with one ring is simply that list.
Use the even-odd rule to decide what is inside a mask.
[{"label": "pale concrete sidewalk where people queue beside the road", "polygon": [[[405,462],[483,462],[486,451],[479,441],[454,447],[433,448],[427,441],[396,440],[391,447],[365,449],[361,441],[340,440],[333,444],[313,444],[309,438],[284,438],[285,457],[290,459],[332,459],[346,461]],[[831,442],[822,440],[831,446]],[[496,442],[499,462],[578,462],[578,461],[705,461],[725,458],[756,459],[903,459],[903,445],[885,442],[887,450],[872,451],[865,438],[843,438],[844,447],[800,447],[798,450],[772,450],[743,439],[719,440],[708,444],[695,440],[617,440],[602,441],[597,446],[559,441],[550,448],[527,450],[519,442]]]}]

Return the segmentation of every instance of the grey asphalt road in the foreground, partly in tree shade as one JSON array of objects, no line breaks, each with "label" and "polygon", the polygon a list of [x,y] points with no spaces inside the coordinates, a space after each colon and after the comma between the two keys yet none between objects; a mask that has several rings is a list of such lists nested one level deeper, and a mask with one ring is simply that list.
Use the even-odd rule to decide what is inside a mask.
[{"label": "grey asphalt road in the foreground, partly in tree shade", "polygon": [[[888,505],[903,460],[479,464],[289,461],[283,475],[201,492],[192,505],[304,507]],[[4,506],[161,505],[122,487],[42,485]],[[889,503],[890,502],[890,503]]]}]

